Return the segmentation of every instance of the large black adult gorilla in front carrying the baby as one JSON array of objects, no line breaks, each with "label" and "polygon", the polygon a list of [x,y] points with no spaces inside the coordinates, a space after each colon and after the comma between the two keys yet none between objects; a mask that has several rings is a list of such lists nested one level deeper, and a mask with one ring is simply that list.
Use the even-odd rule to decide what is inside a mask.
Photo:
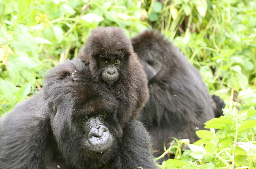
[{"label": "large black adult gorilla in front carrying the baby", "polygon": [[141,122],[120,125],[121,105],[90,75],[88,83],[72,80],[70,72],[84,66],[73,60],[54,68],[42,92],[0,119],[1,169],[156,168]]}]

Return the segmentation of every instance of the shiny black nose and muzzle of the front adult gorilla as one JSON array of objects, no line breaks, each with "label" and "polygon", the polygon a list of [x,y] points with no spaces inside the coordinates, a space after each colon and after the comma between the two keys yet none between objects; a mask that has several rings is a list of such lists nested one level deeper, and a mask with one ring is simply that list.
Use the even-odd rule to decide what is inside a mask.
[{"label": "shiny black nose and muzzle of the front adult gorilla", "polygon": [[111,135],[108,128],[104,125],[92,127],[88,134],[88,142],[92,146],[100,148],[98,149],[100,151],[108,149],[111,142]]}]

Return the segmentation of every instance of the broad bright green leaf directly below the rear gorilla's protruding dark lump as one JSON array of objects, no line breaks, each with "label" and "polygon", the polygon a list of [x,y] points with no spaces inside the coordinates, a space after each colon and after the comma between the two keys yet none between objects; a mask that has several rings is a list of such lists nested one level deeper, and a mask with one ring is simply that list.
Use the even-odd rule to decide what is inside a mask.
[{"label": "broad bright green leaf directly below the rear gorilla's protruding dark lump", "polygon": [[205,127],[207,129],[220,129],[222,127],[226,127],[226,124],[231,123],[232,120],[227,119],[224,116],[220,116],[218,118],[213,118],[207,122],[205,122]]}]

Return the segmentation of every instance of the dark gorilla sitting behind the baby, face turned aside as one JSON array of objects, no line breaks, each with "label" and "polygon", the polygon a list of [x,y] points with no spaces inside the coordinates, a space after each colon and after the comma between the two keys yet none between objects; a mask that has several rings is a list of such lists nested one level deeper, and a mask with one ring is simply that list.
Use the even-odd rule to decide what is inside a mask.
[{"label": "dark gorilla sitting behind the baby, face turned aside", "polygon": [[132,46],[148,77],[150,97],[140,120],[153,136],[156,155],[171,137],[198,140],[195,128],[220,116],[224,102],[211,99],[199,71],[160,33],[145,31],[132,38]]}]

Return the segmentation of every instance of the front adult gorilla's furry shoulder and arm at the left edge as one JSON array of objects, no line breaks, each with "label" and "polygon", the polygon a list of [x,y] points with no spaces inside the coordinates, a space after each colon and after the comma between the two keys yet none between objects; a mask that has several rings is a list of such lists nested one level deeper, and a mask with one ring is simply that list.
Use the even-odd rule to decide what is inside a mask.
[{"label": "front adult gorilla's furry shoulder and arm at the left edge", "polygon": [[39,168],[49,134],[42,93],[19,103],[0,121],[0,168]]}]

